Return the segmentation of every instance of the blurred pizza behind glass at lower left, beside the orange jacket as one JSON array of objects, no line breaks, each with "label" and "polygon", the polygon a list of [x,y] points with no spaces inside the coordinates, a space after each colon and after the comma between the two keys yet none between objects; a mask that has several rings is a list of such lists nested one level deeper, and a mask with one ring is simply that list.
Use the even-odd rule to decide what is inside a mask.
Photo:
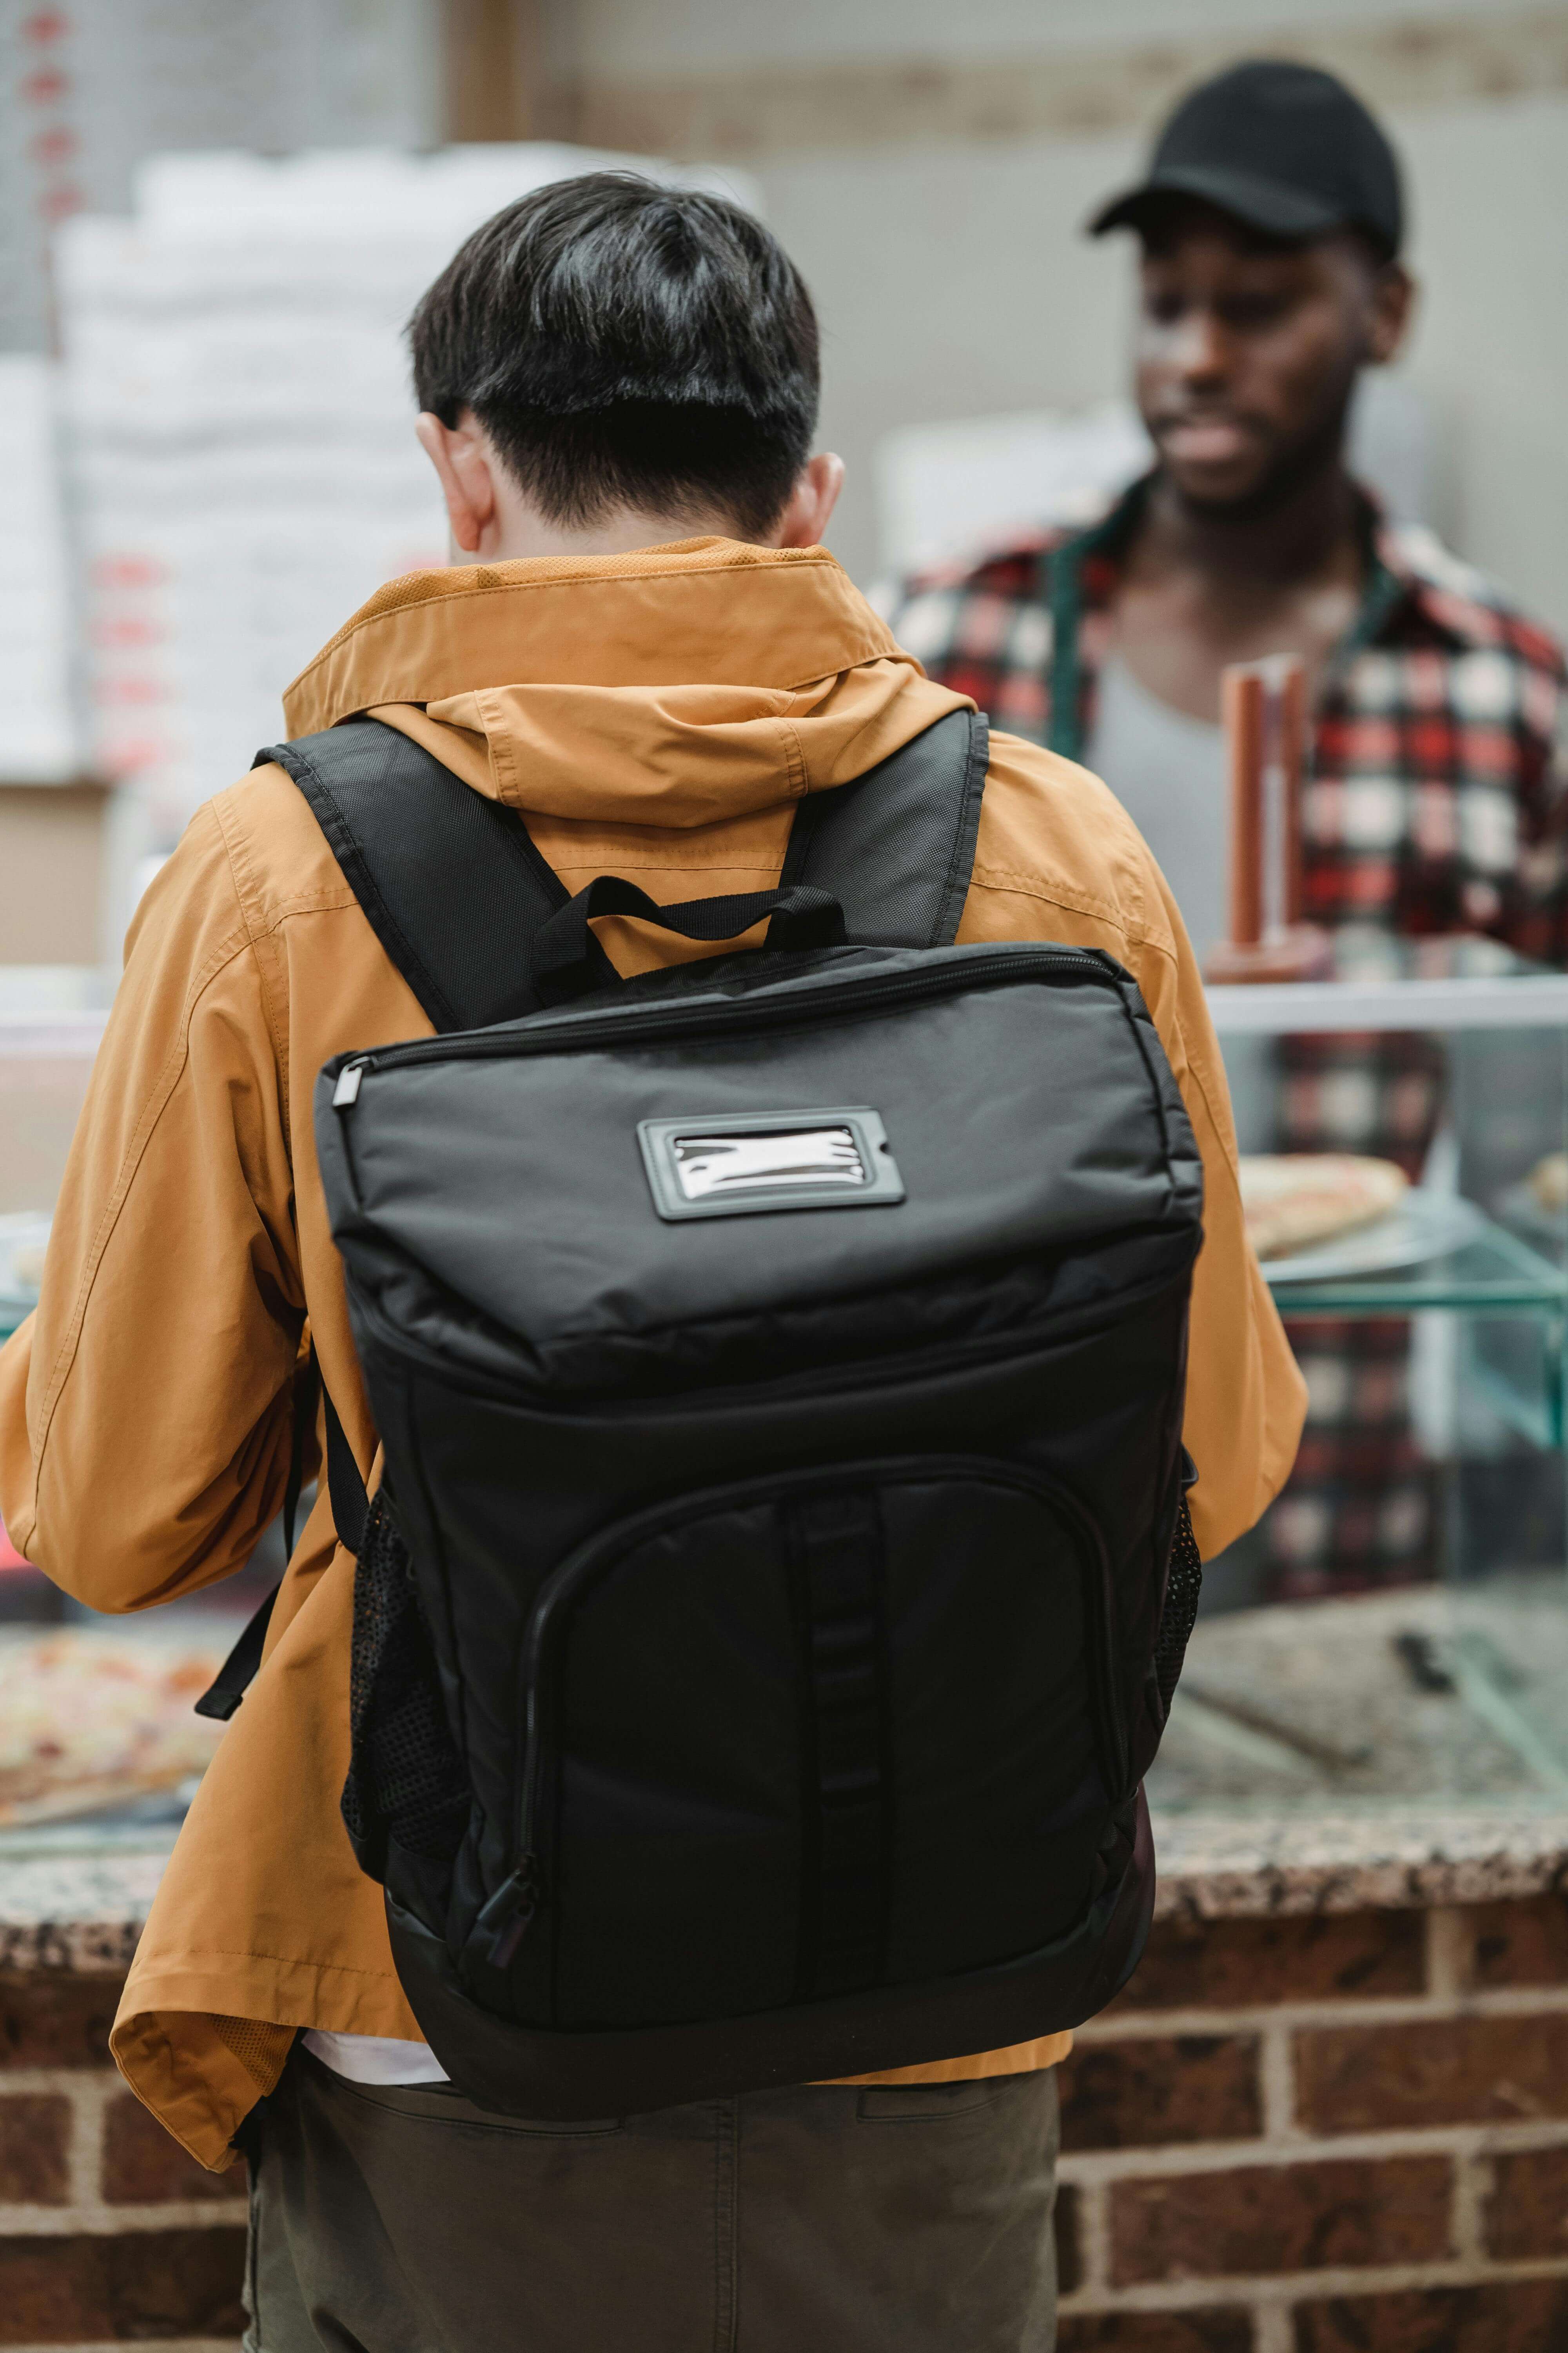
[{"label": "blurred pizza behind glass at lower left, beside the orange jacket", "polygon": [[94,1814],[202,1774],[223,1732],[193,1715],[216,1652],[101,1633],[0,1640],[0,1828]]}]

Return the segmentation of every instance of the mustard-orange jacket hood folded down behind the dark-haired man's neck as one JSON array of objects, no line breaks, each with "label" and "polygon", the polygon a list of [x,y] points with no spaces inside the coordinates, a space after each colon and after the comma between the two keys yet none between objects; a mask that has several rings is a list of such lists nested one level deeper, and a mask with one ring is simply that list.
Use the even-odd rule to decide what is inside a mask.
[{"label": "mustard-orange jacket hood folded down behind the dark-haired man's neck", "polygon": [[825,548],[691,539],[390,581],[284,715],[371,711],[531,816],[689,831],[846,784],[964,701]]}]

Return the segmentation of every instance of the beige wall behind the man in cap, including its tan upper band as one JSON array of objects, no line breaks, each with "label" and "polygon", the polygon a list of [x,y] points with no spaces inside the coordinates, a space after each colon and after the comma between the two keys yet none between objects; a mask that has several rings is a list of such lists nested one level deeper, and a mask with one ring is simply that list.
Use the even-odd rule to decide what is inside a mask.
[{"label": "beige wall behind the man in cap, including its tan upper band", "polygon": [[863,579],[889,426],[1119,391],[1128,256],[1079,224],[1171,94],[1258,49],[1345,71],[1408,165],[1436,520],[1568,631],[1568,5],[555,0],[545,47],[578,136],[757,174],[823,311]]}]

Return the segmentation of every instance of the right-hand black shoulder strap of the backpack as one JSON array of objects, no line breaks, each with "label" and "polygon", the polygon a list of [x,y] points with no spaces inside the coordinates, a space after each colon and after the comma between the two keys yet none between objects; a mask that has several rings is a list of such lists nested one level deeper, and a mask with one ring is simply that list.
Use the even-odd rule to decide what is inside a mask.
[{"label": "right-hand black shoulder strap of the backpack", "polygon": [[947,948],[976,864],[990,732],[950,711],[853,784],[795,812],[780,887],[811,882],[844,908],[849,939]]}]

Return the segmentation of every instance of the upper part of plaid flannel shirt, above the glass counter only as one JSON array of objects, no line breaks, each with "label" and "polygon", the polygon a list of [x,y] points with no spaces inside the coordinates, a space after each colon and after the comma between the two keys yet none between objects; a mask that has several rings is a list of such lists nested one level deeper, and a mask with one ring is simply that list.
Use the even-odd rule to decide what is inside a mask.
[{"label": "upper part of plaid flannel shirt, above the glass counter only", "polygon": [[[1041,532],[907,584],[931,678],[1079,760],[1147,478],[1086,532]],[[1568,671],[1432,532],[1363,496],[1366,588],[1319,687],[1302,795],[1307,918],[1488,932],[1568,962]]]}]

